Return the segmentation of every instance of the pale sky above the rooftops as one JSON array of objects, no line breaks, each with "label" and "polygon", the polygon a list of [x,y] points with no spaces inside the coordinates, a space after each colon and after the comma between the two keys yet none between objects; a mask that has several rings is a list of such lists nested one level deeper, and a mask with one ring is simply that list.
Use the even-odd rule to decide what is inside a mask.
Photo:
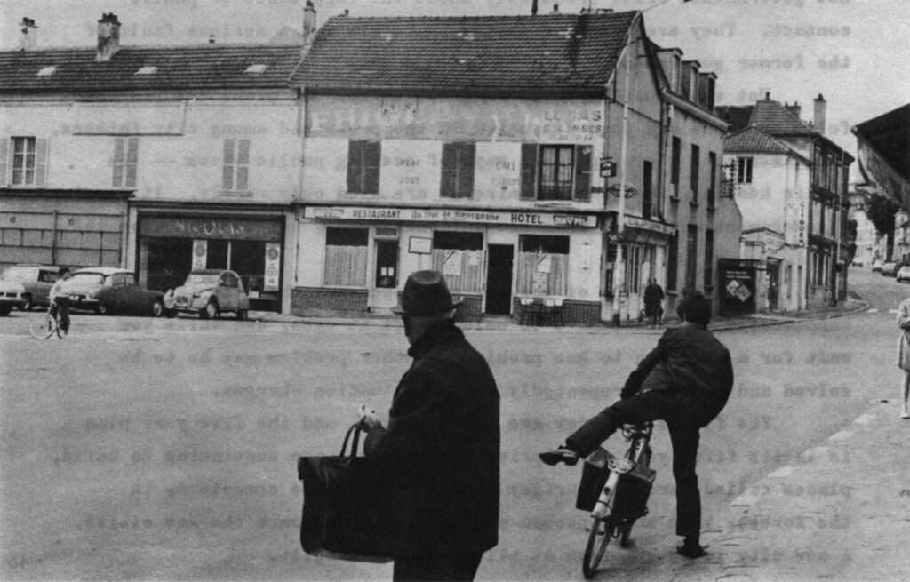
[{"label": "pale sky above the rooftops", "polygon": [[[96,21],[115,13],[121,45],[267,42],[299,30],[305,0],[0,0],[0,48],[15,49],[23,16],[38,45],[95,45]],[[315,0],[319,23],[339,15],[529,15],[531,0]],[[538,14],[554,2],[541,0]],[[718,75],[718,105],[753,104],[766,91],[798,101],[812,118],[827,100],[827,135],[855,152],[850,126],[910,103],[910,3],[906,0],[560,0],[582,7],[642,10],[663,46]],[[855,166],[854,166],[855,169]]]}]

